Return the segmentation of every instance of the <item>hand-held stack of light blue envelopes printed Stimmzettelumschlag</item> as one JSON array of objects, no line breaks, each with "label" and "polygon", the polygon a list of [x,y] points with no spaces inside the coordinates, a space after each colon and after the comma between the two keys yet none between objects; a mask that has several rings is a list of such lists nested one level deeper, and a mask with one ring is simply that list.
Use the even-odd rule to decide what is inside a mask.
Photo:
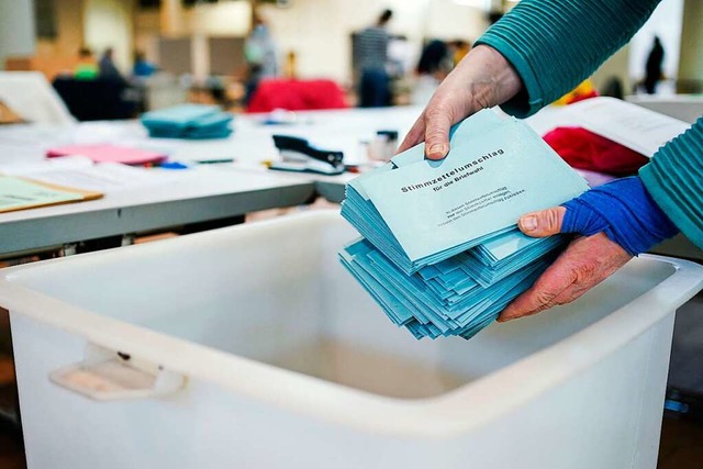
[{"label": "hand-held stack of light blue envelopes printed Stimmzettelumschlag", "polygon": [[527,212],[588,189],[527,124],[483,110],[455,125],[451,150],[424,144],[352,180],[342,215],[362,238],[342,264],[417,338],[470,338],[528,289],[568,239],[531,238]]}]

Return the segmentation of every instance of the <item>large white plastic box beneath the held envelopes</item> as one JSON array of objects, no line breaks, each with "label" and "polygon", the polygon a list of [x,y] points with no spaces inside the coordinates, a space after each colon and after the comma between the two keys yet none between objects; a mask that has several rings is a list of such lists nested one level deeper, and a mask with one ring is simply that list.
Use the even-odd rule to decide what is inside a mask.
[{"label": "large white plastic box beneath the held envelopes", "polygon": [[2,270],[29,467],[655,468],[701,267],[417,342],[339,266],[354,237],[317,212]]}]

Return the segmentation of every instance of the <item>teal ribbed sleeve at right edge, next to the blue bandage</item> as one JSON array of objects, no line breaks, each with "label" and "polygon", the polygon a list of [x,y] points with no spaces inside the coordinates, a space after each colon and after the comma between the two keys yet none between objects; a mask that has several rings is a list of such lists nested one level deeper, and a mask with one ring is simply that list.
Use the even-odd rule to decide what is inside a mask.
[{"label": "teal ribbed sleeve at right edge, next to the blue bandage", "polygon": [[657,205],[703,249],[703,118],[659,148],[639,177]]}]

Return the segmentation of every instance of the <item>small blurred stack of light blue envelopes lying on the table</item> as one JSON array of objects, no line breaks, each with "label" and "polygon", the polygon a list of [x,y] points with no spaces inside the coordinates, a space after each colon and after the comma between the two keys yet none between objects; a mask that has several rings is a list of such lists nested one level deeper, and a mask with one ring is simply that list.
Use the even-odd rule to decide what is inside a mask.
[{"label": "small blurred stack of light blue envelopes lying on the table", "polygon": [[233,115],[216,105],[179,104],[142,114],[142,124],[152,137],[224,138],[232,133]]}]

